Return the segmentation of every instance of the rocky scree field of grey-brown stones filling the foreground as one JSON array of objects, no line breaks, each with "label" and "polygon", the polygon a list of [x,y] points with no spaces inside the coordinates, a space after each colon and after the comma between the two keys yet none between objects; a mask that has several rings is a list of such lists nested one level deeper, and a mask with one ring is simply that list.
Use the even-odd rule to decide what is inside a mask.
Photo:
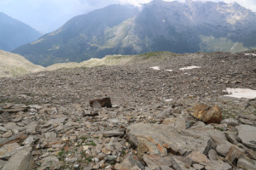
[{"label": "rocky scree field of grey-brown stones filling the foreground", "polygon": [[1,78],[0,169],[256,169],[253,54]]}]

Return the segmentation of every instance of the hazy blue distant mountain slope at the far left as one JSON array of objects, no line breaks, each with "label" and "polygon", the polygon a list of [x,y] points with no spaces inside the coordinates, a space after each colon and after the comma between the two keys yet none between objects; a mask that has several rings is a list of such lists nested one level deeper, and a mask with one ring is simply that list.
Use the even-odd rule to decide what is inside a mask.
[{"label": "hazy blue distant mountain slope at the far left", "polygon": [[35,41],[40,36],[40,33],[31,26],[0,12],[0,49],[11,51]]}]

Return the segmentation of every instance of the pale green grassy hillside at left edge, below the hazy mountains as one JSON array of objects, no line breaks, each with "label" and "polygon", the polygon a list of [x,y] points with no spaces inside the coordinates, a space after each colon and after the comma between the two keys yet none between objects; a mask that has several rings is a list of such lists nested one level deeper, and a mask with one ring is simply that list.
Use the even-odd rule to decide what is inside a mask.
[{"label": "pale green grassy hillside at left edge, below the hazy mountains", "polygon": [[0,60],[0,77],[14,77],[44,71],[43,66],[34,65],[19,54],[0,50]]}]

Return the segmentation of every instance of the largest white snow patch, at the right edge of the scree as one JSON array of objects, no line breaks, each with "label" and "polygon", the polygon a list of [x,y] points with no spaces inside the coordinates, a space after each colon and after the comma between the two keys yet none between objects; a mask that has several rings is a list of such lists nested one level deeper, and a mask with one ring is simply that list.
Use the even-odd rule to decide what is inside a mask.
[{"label": "largest white snow patch, at the right edge of the scree", "polygon": [[249,88],[227,88],[226,91],[228,94],[224,96],[233,97],[233,98],[246,98],[246,99],[254,99],[256,98],[256,90],[252,90]]}]

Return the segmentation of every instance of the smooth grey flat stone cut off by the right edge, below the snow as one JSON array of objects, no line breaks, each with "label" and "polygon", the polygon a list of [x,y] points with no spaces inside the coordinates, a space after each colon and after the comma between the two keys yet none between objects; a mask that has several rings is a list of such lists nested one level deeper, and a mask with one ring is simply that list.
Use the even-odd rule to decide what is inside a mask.
[{"label": "smooth grey flat stone cut off by the right edge, below the snow", "polygon": [[237,138],[241,140],[242,144],[250,149],[256,150],[256,127],[240,125],[236,129],[238,131]]}]

